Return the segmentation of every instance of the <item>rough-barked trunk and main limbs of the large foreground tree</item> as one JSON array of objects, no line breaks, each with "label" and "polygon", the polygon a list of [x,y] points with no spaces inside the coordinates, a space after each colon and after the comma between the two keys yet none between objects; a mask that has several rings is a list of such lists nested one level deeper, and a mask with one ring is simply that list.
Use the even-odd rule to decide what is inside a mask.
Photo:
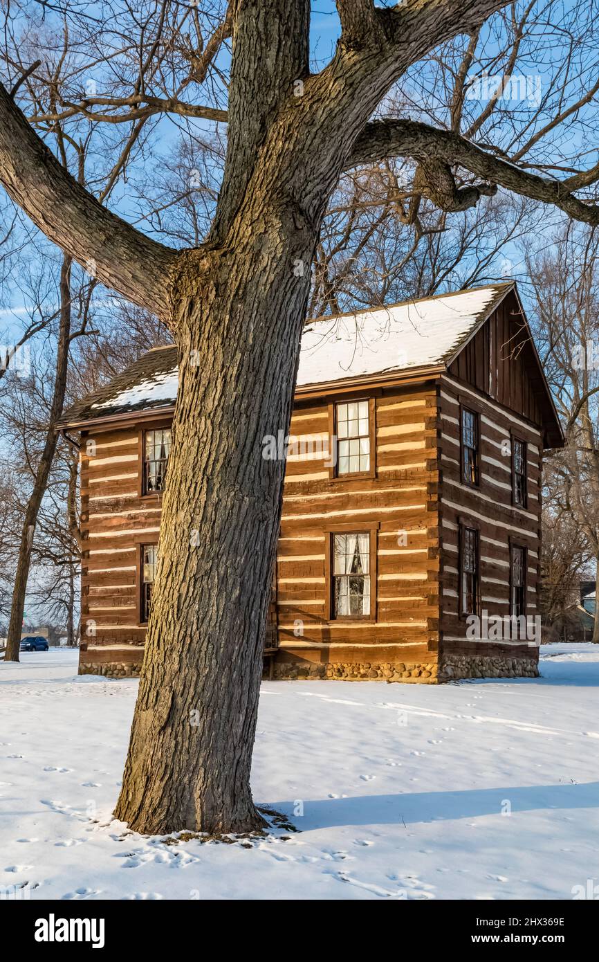
[{"label": "rough-barked trunk and main limbs of the large foreground tree", "polygon": [[[101,208],[0,89],[6,189],[80,263],[93,259],[100,281],[158,312],[179,348],[158,578],[115,809],[139,831],[261,824],[249,774],[285,469],[262,460],[262,438],[288,430],[327,199],[359,161],[353,146],[394,81],[439,42],[472,33],[506,6],[409,0],[380,9],[337,0],[336,54],[309,76],[309,0],[235,0],[223,188],[211,235],[196,250],[149,241]],[[390,153],[401,152],[396,135]],[[442,153],[451,163],[461,146],[444,141],[435,160]],[[485,164],[486,176],[499,166]],[[437,192],[462,203],[441,173]],[[514,189],[524,184],[535,196],[547,183],[524,172]],[[561,202],[569,192],[559,192]],[[474,193],[467,199],[474,203]]]}]

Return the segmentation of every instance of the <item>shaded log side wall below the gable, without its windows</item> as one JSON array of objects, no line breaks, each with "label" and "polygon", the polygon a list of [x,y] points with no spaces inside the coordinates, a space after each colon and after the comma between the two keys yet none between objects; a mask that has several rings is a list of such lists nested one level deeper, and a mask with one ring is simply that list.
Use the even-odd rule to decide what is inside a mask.
[{"label": "shaded log side wall below the gable, without its windows", "polygon": [[[480,487],[462,483],[460,402],[480,415]],[[460,520],[479,528],[481,608],[489,618],[510,616],[510,540],[527,547],[527,613],[537,616],[540,576],[540,478],[542,437],[538,426],[517,416],[456,377],[442,377],[439,386],[439,455],[442,468],[440,529],[441,648],[448,666],[469,658],[521,659],[526,673],[537,662],[537,647],[516,640],[473,641],[466,638],[466,621],[460,617]],[[512,433],[528,444],[528,504],[512,505]],[[489,663],[490,664],[490,663]],[[530,672],[529,672],[530,669]],[[452,669],[450,673],[456,676]],[[463,673],[462,671],[459,673]],[[490,673],[483,671],[483,673]],[[514,671],[514,673],[519,673]]]}]

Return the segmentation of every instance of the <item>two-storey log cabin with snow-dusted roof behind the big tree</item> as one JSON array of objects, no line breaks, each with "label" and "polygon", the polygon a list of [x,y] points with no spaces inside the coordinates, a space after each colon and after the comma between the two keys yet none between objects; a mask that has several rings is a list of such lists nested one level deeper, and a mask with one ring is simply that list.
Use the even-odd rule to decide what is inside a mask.
[{"label": "two-storey log cabin with snow-dusted roof behind the big tree", "polygon": [[[150,350],[80,434],[79,671],[137,674],[177,395]],[[560,421],[515,283],[305,326],[266,627],[270,678],[537,675],[544,450]]]}]

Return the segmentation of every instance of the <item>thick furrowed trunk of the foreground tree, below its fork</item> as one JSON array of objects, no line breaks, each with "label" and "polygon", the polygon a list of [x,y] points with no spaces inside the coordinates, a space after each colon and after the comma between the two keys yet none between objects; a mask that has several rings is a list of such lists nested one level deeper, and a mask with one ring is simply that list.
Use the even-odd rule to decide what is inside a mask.
[{"label": "thick furrowed trunk of the foreground tree, below its fork", "polygon": [[285,471],[262,440],[288,430],[315,244],[290,233],[277,224],[263,243],[189,264],[159,570],[115,810],[138,831],[262,824],[250,765]]}]

